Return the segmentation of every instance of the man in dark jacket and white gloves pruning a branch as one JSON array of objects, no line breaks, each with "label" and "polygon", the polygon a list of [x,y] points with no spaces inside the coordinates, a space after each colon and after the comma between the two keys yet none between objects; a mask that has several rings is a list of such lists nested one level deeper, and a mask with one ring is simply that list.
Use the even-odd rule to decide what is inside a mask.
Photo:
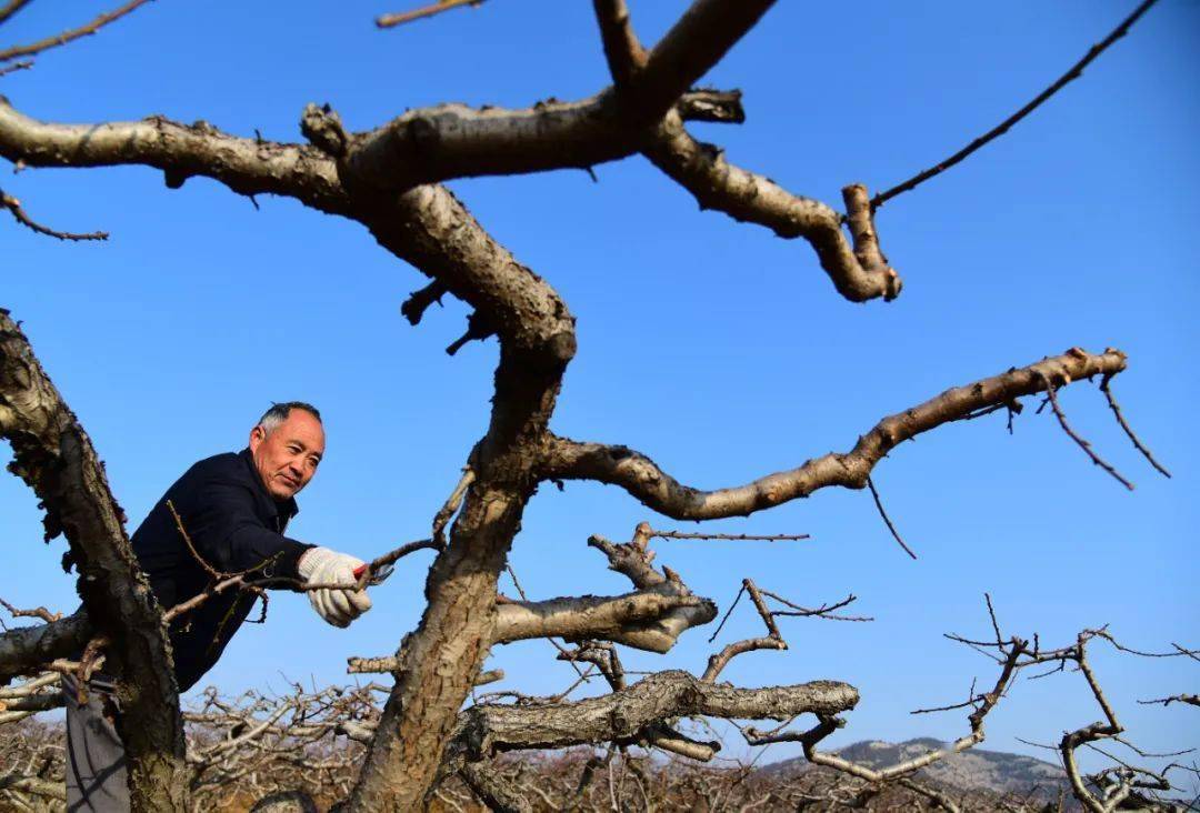
[{"label": "man in dark jacket and white gloves pruning a branch", "polygon": [[[299,511],[295,495],[317,474],[324,453],[320,412],[301,402],[275,404],[251,429],[247,448],[200,460],[167,489],[132,538],[162,608],[198,596],[215,579],[234,573],[281,579],[282,586],[353,584],[354,570],[364,564],[360,559],[283,535]],[[349,626],[371,609],[365,591],[307,592],[313,609],[336,627]],[[252,592],[228,591],[172,621],[180,692],[212,668],[254,600]],[[64,688],[67,809],[127,809],[125,752],[113,725],[110,685],[103,676],[95,680],[82,705],[72,680],[64,680]]]}]

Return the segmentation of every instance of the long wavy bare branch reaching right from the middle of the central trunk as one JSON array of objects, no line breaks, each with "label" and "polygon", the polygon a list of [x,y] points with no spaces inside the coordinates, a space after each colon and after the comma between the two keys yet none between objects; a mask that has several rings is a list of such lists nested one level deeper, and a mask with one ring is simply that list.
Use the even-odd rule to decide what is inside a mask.
[{"label": "long wavy bare branch reaching right from the middle of the central trunk", "polygon": [[625,446],[584,444],[554,438],[546,448],[545,480],[595,480],[619,486],[654,511],[676,519],[745,516],[829,486],[863,488],[884,454],[923,432],[960,421],[989,405],[1004,404],[1045,389],[1092,375],[1115,375],[1126,367],[1120,350],[1093,355],[1073,348],[1061,356],[1010,369],[992,378],[947,390],[923,404],[890,415],[859,438],[846,453],[829,453],[788,471],[745,486],[704,492],[680,484],[644,454]]}]

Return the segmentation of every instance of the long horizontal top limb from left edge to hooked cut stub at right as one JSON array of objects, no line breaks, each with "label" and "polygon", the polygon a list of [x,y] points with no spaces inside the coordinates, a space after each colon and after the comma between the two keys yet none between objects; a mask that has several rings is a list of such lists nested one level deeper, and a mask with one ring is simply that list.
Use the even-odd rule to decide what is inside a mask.
[{"label": "long horizontal top limb from left edge to hooked cut stub at right", "polygon": [[[428,191],[409,198],[420,192],[413,189],[420,183],[590,167],[643,151],[703,206],[809,241],[847,299],[899,294],[893,269],[859,261],[859,245],[846,240],[833,209],[726,164],[718,150],[696,143],[683,130],[686,116],[714,120],[714,115],[722,121],[740,120],[740,107],[712,92],[691,94],[680,100],[680,112],[672,110],[655,132],[649,125],[631,128],[610,89],[582,102],[546,102],[524,110],[456,104],[413,110],[360,134],[346,133],[340,122],[331,126],[334,114],[310,108],[305,132],[318,147],[238,138],[204,121],[186,126],[162,116],[48,124],[17,112],[0,96],[0,155],[36,167],[144,164],[162,169],[172,188],[203,175],[240,194],[287,195],[358,219],[378,237],[378,231],[395,228],[395,218],[403,217],[413,203],[428,199]],[[402,195],[407,204],[394,205],[386,193],[395,189],[412,189]],[[427,189],[449,195],[442,187]],[[384,228],[377,229],[372,221]]]}]

